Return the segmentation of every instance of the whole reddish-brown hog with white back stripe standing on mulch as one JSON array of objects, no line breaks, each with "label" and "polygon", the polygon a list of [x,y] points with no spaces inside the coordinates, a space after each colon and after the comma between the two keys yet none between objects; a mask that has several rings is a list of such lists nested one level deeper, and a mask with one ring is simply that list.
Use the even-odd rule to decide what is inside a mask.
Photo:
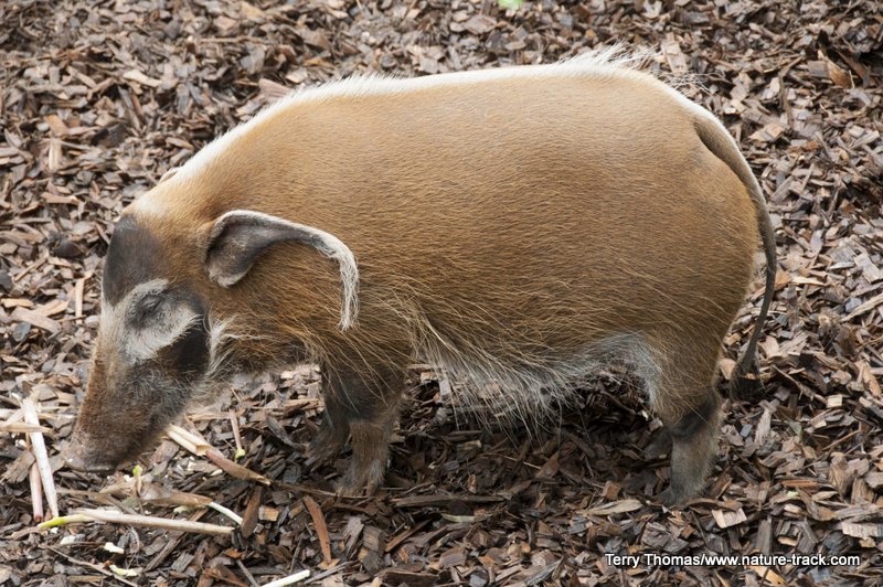
[{"label": "whole reddish-brown hog with white back stripe standing on mulch", "polygon": [[553,65],[295,92],[125,209],[67,460],[110,470],[237,373],[322,371],[310,447],[383,480],[406,365],[535,417],[630,365],[671,439],[664,503],[716,453],[722,340],[763,243],[760,188],[708,110],[602,50]]}]

